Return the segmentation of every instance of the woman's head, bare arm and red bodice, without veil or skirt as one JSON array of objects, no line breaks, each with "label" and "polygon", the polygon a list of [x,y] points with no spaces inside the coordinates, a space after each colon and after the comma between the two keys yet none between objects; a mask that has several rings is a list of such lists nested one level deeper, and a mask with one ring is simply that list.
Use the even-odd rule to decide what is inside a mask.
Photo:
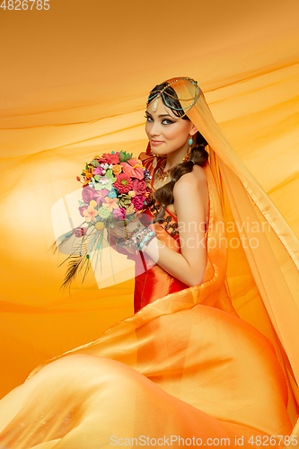
[{"label": "woman's head, bare arm and red bodice, without veil or skirt", "polygon": [[[157,96],[161,91],[163,96]],[[155,156],[148,158],[142,153],[139,157],[147,161],[152,176],[155,198],[149,215],[157,223],[155,233],[159,238],[140,252],[141,260],[136,254],[136,273],[141,274],[135,279],[135,312],[165,295],[198,286],[207,266],[207,142],[184,114],[175,91],[167,83],[155,86],[150,93],[145,118],[148,149]],[[128,230],[133,232],[137,226],[145,229],[138,220]],[[113,234],[125,237],[126,229],[116,227]],[[134,253],[134,247],[133,242],[130,247],[126,242],[129,252]],[[144,269],[143,264],[150,266],[150,260],[157,264]]]}]

